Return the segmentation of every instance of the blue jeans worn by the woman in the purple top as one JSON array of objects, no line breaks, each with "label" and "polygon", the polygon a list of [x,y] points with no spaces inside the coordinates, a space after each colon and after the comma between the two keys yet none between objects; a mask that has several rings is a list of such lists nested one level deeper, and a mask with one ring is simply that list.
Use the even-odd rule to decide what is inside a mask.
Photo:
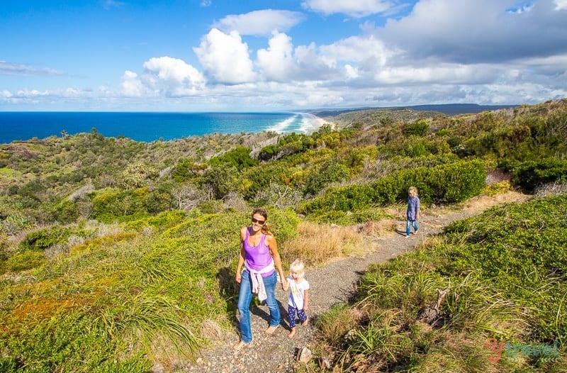
[{"label": "blue jeans worn by the woman in the purple top", "polygon": [[[278,277],[276,271],[264,277],[266,288],[266,306],[270,311],[270,326],[278,326],[280,322],[279,306],[276,301],[276,284]],[[250,303],[252,302],[252,280],[248,271],[242,272],[240,292],[238,293],[238,312],[240,313],[240,339],[244,343],[252,342],[252,325],[250,324]]]}]

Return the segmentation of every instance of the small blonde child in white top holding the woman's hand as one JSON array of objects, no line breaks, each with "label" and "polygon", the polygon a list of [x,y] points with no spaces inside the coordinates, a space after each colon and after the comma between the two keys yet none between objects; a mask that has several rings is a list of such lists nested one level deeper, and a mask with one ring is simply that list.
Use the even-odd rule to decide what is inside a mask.
[{"label": "small blonde child in white top holding the woman's hand", "polygon": [[309,321],[305,313],[309,305],[309,282],[305,279],[303,260],[294,260],[289,266],[289,274],[288,284],[291,291],[288,299],[288,318],[291,332],[288,338],[293,338],[293,335],[296,335],[296,316],[303,326]]}]

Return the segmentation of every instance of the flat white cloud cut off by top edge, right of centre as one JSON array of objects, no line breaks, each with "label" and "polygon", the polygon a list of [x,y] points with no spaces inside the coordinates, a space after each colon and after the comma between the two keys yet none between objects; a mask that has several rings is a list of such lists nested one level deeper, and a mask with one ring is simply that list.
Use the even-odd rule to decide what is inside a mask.
[{"label": "flat white cloud cut off by top edge, right of centre", "polygon": [[391,1],[383,0],[305,0],[301,5],[305,9],[325,15],[344,13],[354,18],[383,13],[393,6]]}]

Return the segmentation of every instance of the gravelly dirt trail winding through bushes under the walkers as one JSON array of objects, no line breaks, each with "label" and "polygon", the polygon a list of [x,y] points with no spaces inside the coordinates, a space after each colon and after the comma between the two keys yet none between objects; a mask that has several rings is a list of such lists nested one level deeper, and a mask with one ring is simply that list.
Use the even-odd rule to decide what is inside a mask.
[{"label": "gravelly dirt trail winding through bushes under the walkers", "polygon": [[[315,335],[313,320],[318,315],[327,311],[335,304],[343,304],[352,296],[357,281],[364,274],[371,263],[386,262],[391,258],[414,250],[427,240],[431,235],[440,233],[444,226],[452,221],[462,220],[482,213],[487,208],[495,205],[506,204],[515,201],[525,201],[529,196],[508,192],[497,196],[478,196],[464,204],[459,211],[451,211],[446,208],[428,208],[422,211],[419,221],[420,229],[417,234],[405,238],[404,211],[389,211],[400,220],[395,221],[395,231],[376,238],[373,241],[373,250],[364,257],[347,257],[328,263],[317,269],[307,269],[306,278],[310,282],[310,316],[309,325],[303,327],[298,325],[298,333],[293,339],[288,339],[289,333],[286,321],[287,315],[287,293],[276,289],[276,297],[281,304],[282,323],[281,326],[269,337],[264,336],[264,330],[268,325],[268,310],[266,306],[251,308],[252,333],[254,340],[252,345],[245,350],[235,352],[232,345],[237,343],[237,325],[234,333],[225,335],[214,347],[201,352],[196,362],[191,364],[180,364],[173,367],[175,372],[211,372],[211,373],[284,373],[294,372],[296,364],[296,352],[301,347],[310,347]],[[162,369],[154,369],[154,372],[164,372]]]}]

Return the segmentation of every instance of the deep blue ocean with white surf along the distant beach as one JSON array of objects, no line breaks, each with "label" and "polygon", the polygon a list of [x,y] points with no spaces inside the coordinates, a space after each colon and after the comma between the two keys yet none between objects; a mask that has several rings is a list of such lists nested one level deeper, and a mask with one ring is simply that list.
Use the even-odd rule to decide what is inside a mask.
[{"label": "deep blue ocean with white surf along the distant beach", "polygon": [[309,113],[125,113],[0,111],[0,143],[90,133],[151,143],[208,133],[308,133],[320,121]]}]

